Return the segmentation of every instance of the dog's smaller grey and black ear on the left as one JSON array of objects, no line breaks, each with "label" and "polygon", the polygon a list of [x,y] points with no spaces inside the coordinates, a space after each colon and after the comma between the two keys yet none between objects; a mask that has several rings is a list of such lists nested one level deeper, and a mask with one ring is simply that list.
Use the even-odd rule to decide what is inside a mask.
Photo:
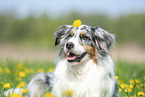
[{"label": "dog's smaller grey and black ear on the left", "polygon": [[67,32],[72,28],[72,25],[63,25],[59,27],[59,30],[54,33],[55,35],[55,46],[60,44],[61,39],[67,34]]}]

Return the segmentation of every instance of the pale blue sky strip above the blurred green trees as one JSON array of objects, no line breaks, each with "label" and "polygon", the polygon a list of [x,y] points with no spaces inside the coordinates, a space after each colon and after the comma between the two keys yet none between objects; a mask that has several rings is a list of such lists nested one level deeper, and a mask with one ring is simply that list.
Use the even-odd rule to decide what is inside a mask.
[{"label": "pale blue sky strip above the blurred green trees", "polygon": [[145,13],[145,0],[0,0],[0,13],[15,12],[20,17],[39,16],[44,12],[58,17],[72,11],[110,16]]}]

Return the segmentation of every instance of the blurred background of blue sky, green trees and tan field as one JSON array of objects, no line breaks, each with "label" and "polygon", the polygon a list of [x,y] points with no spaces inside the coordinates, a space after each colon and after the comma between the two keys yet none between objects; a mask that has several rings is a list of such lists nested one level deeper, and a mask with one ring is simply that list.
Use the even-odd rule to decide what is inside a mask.
[{"label": "blurred background of blue sky, green trees and tan field", "polygon": [[0,60],[55,61],[53,33],[76,19],[116,35],[115,61],[145,62],[145,0],[0,0]]}]

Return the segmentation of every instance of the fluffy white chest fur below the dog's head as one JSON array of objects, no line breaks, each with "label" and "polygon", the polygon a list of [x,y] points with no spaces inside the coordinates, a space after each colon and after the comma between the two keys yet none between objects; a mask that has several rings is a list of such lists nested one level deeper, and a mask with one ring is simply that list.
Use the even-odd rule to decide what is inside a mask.
[{"label": "fluffy white chest fur below the dog's head", "polygon": [[112,59],[107,56],[95,64],[92,60],[69,66],[67,60],[61,60],[54,72],[53,93],[63,97],[67,91],[73,91],[74,97],[111,97],[115,78]]}]

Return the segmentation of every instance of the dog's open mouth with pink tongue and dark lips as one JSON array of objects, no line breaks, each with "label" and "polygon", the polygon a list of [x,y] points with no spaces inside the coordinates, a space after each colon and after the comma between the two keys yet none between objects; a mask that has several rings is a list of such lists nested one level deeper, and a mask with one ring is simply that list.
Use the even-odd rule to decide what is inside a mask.
[{"label": "dog's open mouth with pink tongue and dark lips", "polygon": [[68,52],[67,54],[67,61],[68,62],[80,62],[81,59],[83,59],[83,57],[85,57],[85,55],[87,54],[87,52],[81,54],[81,55],[76,55],[72,52]]}]

